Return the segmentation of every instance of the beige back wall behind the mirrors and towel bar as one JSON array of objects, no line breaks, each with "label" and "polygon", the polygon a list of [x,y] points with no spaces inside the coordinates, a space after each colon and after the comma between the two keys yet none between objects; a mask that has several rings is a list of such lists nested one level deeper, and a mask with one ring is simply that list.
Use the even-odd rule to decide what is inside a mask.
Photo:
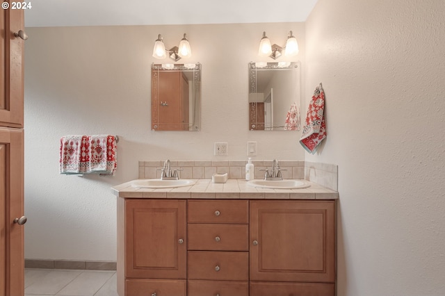
[{"label": "beige back wall behind the mirrors and towel bar", "polygon": [[[263,31],[284,45],[291,30],[300,54],[289,61],[304,65],[303,23],[26,28],[25,257],[115,261],[110,187],[136,179],[138,161],[243,160],[248,141],[255,159],[303,160],[299,133],[248,131],[248,63],[270,61],[257,56]],[[167,48],[187,33],[193,57],[180,62],[202,63],[202,131],[149,130],[159,33]],[[58,174],[60,136],[79,133],[119,135],[114,177]],[[213,156],[213,142],[229,156]]]}]

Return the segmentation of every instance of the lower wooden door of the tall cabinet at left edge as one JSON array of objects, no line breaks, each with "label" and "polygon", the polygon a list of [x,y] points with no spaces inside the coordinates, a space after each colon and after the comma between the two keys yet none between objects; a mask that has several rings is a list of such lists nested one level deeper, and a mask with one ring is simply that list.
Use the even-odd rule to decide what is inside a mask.
[{"label": "lower wooden door of the tall cabinet at left edge", "polygon": [[0,296],[24,295],[23,131],[0,127]]}]

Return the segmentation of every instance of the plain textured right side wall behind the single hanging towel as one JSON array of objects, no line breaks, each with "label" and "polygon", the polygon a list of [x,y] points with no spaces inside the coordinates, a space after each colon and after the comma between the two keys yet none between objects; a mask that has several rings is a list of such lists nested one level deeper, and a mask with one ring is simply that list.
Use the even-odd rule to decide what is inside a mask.
[{"label": "plain textured right side wall behind the single hanging towel", "polygon": [[338,295],[445,295],[445,2],[318,0],[306,104],[320,82],[339,165]]}]

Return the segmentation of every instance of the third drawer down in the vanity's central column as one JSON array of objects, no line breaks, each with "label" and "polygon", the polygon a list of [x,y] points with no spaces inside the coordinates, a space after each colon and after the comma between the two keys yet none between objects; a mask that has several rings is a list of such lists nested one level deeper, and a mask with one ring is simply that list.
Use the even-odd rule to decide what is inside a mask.
[{"label": "third drawer down in the vanity's central column", "polygon": [[248,281],[248,252],[188,252],[188,279]]}]

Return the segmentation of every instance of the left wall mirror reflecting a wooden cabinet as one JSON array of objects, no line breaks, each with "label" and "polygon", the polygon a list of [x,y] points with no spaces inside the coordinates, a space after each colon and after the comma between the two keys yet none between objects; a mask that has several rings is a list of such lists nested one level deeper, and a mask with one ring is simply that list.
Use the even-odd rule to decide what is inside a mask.
[{"label": "left wall mirror reflecting a wooden cabinet", "polygon": [[200,128],[201,64],[152,64],[152,130]]}]

